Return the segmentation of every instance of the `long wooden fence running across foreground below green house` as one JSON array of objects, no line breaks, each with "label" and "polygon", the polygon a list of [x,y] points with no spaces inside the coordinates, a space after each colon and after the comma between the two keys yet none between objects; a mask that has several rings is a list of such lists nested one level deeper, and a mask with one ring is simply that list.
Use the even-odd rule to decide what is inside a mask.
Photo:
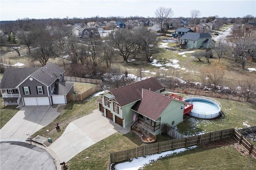
[{"label": "long wooden fence running across foreground below green house", "polygon": [[120,162],[123,160],[136,158],[139,156],[145,156],[145,155],[160,153],[168,150],[174,150],[178,148],[193,146],[196,144],[202,144],[205,142],[211,142],[211,141],[219,140],[223,138],[229,138],[229,137],[232,137],[233,134],[234,134],[234,129],[232,128],[232,129],[220,130],[216,132],[210,132],[207,134],[201,134],[198,136],[190,136],[186,138],[167,140],[164,142],[157,142],[153,144],[138,146],[136,148],[132,148],[128,150],[113,152],[113,153],[110,153],[108,169],[110,168],[110,164],[114,162]]}]

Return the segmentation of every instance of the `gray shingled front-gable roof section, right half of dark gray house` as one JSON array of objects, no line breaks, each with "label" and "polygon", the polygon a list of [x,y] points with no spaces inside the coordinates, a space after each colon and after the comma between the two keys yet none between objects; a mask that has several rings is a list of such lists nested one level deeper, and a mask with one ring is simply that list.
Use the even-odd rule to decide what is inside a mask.
[{"label": "gray shingled front-gable roof section, right half of dark gray house", "polygon": [[37,79],[46,86],[50,86],[57,78],[58,75],[63,74],[65,71],[53,63],[48,63],[41,67],[30,76]]}]

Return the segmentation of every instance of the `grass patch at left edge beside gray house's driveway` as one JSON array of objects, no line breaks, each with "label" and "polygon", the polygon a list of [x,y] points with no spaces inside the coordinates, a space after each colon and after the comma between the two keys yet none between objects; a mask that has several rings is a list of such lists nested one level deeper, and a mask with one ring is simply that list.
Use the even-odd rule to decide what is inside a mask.
[{"label": "grass patch at left edge beside gray house's driveway", "polygon": [[2,128],[12,117],[19,111],[19,109],[15,109],[17,105],[7,105],[4,106],[3,98],[0,98],[0,128]]}]

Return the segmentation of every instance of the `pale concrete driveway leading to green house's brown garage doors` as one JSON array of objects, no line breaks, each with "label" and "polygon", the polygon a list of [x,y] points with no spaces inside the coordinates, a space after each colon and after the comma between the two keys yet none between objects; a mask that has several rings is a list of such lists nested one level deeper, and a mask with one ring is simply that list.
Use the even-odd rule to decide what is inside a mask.
[{"label": "pale concrete driveway leading to green house's brown garage doors", "polygon": [[129,132],[128,129],[104,117],[100,111],[94,110],[90,115],[72,121],[62,136],[49,147],[58,156],[60,162],[68,162],[82,150],[118,131],[123,134]]}]

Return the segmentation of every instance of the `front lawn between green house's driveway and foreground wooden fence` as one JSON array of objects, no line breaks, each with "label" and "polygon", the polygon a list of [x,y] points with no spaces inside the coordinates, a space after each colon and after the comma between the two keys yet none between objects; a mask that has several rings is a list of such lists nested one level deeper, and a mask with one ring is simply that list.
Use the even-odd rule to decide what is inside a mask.
[{"label": "front lawn between green house's driveway and foreground wooden fence", "polygon": [[[157,142],[171,139],[170,136],[157,135]],[[121,134],[116,132],[74,156],[74,158],[67,162],[68,168],[70,170],[103,170],[107,168],[110,153],[141,145],[145,144],[142,143],[139,136],[135,133]],[[89,159],[86,159],[86,156],[89,156]]]}]

